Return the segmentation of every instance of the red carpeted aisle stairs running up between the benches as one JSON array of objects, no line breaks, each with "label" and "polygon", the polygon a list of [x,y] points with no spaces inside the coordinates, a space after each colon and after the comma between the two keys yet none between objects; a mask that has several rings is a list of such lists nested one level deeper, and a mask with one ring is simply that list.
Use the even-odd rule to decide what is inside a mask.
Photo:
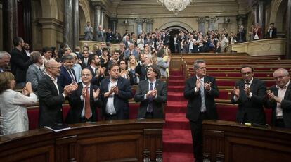
[{"label": "red carpeted aisle stairs running up between the benches", "polygon": [[168,101],[163,129],[163,161],[192,162],[193,147],[190,125],[186,119],[187,101],[183,97],[183,73],[171,73],[168,80]]}]

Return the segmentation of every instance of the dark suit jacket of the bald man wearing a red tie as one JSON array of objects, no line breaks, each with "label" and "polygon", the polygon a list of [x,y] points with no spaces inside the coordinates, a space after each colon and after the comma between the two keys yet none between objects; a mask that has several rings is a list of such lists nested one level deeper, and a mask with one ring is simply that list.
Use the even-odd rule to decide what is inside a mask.
[{"label": "dark suit jacket of the bald man wearing a red tie", "polygon": [[[101,108],[103,106],[103,101],[101,97],[98,97],[98,100],[94,101],[93,99],[93,89],[96,90],[99,87],[96,85],[90,85],[90,108],[91,108],[91,113],[92,113],[92,120],[97,121],[98,120],[98,114],[97,114],[97,107]],[[82,118],[82,111],[84,107],[84,99],[83,101],[81,100],[82,96],[82,89],[83,89],[83,84],[82,82],[79,83],[79,87],[77,90],[72,92],[69,97],[69,104],[71,106],[70,111],[67,113],[67,118],[66,118],[66,123],[68,124],[73,124],[73,123],[80,123],[81,118]],[[99,94],[99,96],[101,96]]]}]

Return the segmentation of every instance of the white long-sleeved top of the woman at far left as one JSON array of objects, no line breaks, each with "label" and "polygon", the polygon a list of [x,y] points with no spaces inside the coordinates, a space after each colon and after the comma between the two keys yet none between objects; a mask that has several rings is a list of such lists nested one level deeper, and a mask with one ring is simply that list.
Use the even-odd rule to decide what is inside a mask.
[{"label": "white long-sleeved top of the woman at far left", "polygon": [[25,104],[37,103],[37,95],[25,96],[20,92],[7,89],[0,95],[1,132],[9,135],[28,130],[28,116]]}]

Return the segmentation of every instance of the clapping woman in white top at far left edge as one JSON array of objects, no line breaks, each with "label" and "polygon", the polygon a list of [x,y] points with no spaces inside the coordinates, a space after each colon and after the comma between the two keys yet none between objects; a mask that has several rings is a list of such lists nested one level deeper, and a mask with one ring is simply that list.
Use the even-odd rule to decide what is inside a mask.
[{"label": "clapping woman in white top at far left edge", "polygon": [[28,116],[25,104],[37,103],[37,95],[32,92],[32,84],[27,82],[22,93],[13,91],[14,75],[0,73],[1,134],[9,135],[28,130]]}]

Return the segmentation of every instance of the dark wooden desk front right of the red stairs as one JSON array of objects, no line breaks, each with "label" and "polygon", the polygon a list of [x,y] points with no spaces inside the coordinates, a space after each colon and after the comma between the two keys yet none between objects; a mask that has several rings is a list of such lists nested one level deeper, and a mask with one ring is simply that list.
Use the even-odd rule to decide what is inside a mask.
[{"label": "dark wooden desk front right of the red stairs", "polygon": [[203,121],[203,156],[210,161],[290,161],[291,130]]}]

